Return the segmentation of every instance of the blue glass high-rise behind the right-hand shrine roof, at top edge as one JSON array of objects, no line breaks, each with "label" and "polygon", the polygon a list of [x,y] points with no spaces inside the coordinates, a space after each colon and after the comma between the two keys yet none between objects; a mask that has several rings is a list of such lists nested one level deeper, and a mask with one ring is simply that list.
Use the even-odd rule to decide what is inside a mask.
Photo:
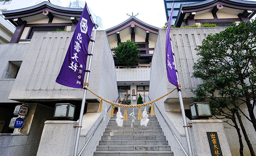
[{"label": "blue glass high-rise behind the right-hand shrine roof, at top edge", "polygon": [[[169,16],[172,10],[173,1],[174,0],[164,0],[167,21],[169,20]],[[173,8],[174,12],[172,14],[172,25],[174,25],[176,18],[178,16],[178,12],[180,10],[180,4],[189,4],[189,3],[196,3],[196,2],[202,2],[202,1],[204,0],[175,0],[174,8]]]}]

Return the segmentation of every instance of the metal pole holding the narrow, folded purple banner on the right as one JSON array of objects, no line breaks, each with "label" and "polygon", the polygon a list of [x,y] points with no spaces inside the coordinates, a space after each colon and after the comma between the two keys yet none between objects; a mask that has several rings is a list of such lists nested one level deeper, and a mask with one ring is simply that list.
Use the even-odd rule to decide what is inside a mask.
[{"label": "metal pole holding the narrow, folded purple banner on the right", "polygon": [[[172,47],[172,40],[171,40],[171,47]],[[172,52],[173,52],[173,48],[172,48]],[[177,68],[174,55],[173,55],[173,59],[174,59],[174,66],[175,66],[175,68]],[[180,84],[177,70],[176,70],[176,75],[177,75],[178,84]],[[179,94],[180,109],[181,109],[183,125],[184,125],[183,127],[184,127],[184,130],[185,130],[186,140],[187,140],[187,144],[188,144],[188,154],[189,154],[189,156],[193,156],[192,147],[191,147],[191,143],[190,143],[190,137],[189,137],[189,134],[188,134],[188,125],[187,125],[187,120],[186,120],[186,115],[185,115],[185,109],[184,109],[183,99],[182,99],[182,95],[181,95],[180,90],[178,90],[178,94]]]}]

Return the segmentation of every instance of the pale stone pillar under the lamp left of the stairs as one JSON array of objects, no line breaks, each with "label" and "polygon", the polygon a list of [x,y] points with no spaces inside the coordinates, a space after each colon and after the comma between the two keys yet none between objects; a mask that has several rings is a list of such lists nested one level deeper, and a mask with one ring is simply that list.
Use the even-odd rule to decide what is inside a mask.
[{"label": "pale stone pillar under the lamp left of the stairs", "polygon": [[37,156],[73,156],[78,122],[46,121]]}]

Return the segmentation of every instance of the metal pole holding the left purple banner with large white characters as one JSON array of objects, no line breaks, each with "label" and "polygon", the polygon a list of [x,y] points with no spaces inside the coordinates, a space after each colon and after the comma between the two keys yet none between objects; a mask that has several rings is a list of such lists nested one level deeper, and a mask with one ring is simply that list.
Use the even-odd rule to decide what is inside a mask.
[{"label": "metal pole holding the left purple banner with large white characters", "polygon": [[[94,29],[94,35],[93,35],[93,40],[95,40],[95,35],[96,35],[96,29]],[[93,52],[93,48],[94,48],[94,42],[92,42],[92,46],[91,46],[91,53]],[[91,69],[91,64],[92,64],[92,55],[89,55],[90,59],[89,59],[89,64],[88,64],[88,71],[90,71]],[[86,79],[85,82],[89,82],[89,75],[90,72],[86,72]],[[88,87],[86,85],[86,87]],[[83,120],[83,116],[84,116],[84,105],[85,105],[85,98],[86,98],[86,93],[87,90],[84,89],[84,95],[83,95],[83,100],[82,100],[82,105],[81,105],[81,110],[80,110],[80,116],[79,116],[79,121],[78,121],[78,127],[77,127],[77,134],[76,134],[76,143],[75,143],[75,148],[74,148],[74,156],[77,156],[78,154],[78,144],[79,144],[79,138],[80,138],[80,133],[81,133],[81,128],[82,128],[82,120]]]}]

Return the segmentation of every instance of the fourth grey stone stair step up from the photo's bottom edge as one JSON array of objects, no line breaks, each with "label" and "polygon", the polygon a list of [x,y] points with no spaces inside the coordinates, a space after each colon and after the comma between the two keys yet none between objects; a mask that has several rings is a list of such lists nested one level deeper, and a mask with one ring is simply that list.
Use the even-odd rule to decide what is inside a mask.
[{"label": "fourth grey stone stair step up from the photo's bottom edge", "polygon": [[165,136],[102,136],[101,140],[166,140]]}]

